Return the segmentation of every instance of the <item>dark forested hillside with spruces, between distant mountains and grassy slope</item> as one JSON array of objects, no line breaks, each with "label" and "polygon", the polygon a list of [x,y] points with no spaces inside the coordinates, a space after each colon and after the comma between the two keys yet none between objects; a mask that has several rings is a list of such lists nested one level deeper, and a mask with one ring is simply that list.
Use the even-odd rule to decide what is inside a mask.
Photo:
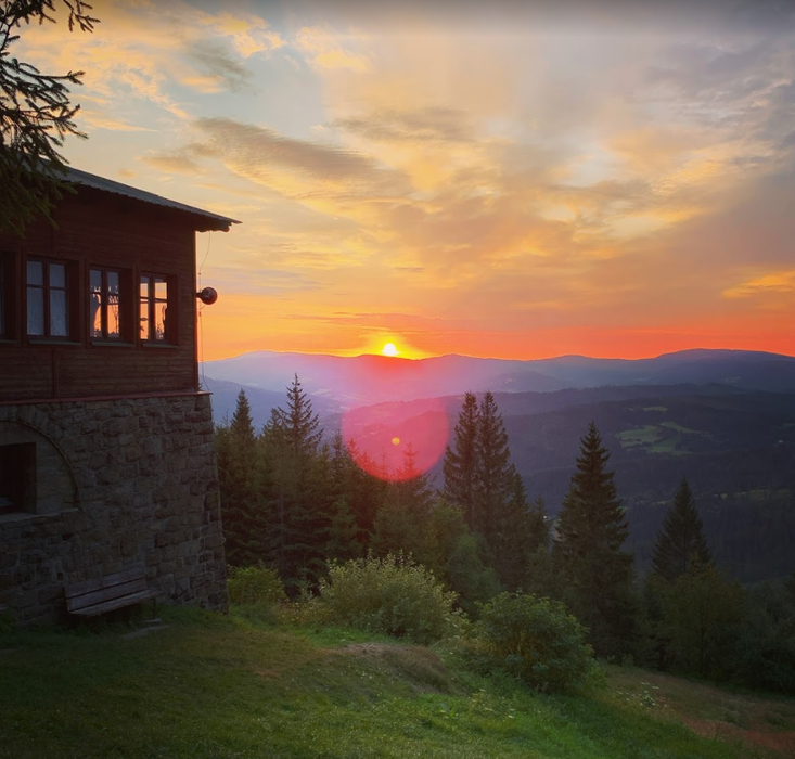
[{"label": "dark forested hillside with spruces, between distant mountains and grassy slope", "polygon": [[[466,393],[443,411],[359,410],[350,438],[323,429],[297,376],[261,430],[241,391],[217,429],[228,562],[270,567],[308,599],[341,563],[402,554],[471,618],[502,591],[549,596],[600,656],[786,691],[795,402],[689,390],[616,400],[624,390],[603,389],[610,400],[576,406],[534,396],[548,409],[535,414],[515,413],[512,396],[508,417],[505,396]],[[434,474],[420,451],[440,424]],[[538,468],[523,476],[528,463]],[[744,589],[753,573],[782,579]]]}]

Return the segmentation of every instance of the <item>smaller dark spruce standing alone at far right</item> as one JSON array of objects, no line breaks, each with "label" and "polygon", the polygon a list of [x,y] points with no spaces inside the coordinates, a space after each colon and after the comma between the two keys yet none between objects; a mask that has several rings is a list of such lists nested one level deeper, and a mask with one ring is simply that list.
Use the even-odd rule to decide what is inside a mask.
[{"label": "smaller dark spruce standing alone at far right", "polygon": [[674,504],[657,533],[653,561],[654,571],[668,582],[675,582],[694,561],[705,566],[711,564],[713,557],[704,538],[704,524],[687,477],[682,477]]}]

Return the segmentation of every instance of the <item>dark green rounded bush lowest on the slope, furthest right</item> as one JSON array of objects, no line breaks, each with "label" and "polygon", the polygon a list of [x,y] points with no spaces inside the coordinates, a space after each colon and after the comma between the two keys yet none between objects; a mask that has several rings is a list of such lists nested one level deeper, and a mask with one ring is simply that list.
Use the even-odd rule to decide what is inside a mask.
[{"label": "dark green rounded bush lowest on the slope, furthest right", "polygon": [[501,593],[480,607],[473,634],[492,666],[541,691],[575,691],[593,668],[586,629],[563,604]]}]

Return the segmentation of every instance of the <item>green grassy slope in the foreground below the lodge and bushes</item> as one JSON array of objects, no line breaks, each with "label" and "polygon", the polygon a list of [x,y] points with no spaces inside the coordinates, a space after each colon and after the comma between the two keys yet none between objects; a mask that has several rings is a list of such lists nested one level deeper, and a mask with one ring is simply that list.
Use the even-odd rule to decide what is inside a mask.
[{"label": "green grassy slope in the foreground below the lodge and bushes", "polygon": [[[617,689],[543,696],[350,631],[166,614],[140,638],[38,632],[0,651],[0,757],[785,756],[700,737],[631,670],[611,674]],[[771,730],[792,730],[795,705],[775,708]]]}]

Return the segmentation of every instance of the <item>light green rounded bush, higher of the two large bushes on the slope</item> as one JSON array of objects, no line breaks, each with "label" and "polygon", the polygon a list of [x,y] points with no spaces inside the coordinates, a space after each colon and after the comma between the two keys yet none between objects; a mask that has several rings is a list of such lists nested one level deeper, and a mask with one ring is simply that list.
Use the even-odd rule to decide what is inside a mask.
[{"label": "light green rounded bush, higher of the two large bushes on the slope", "polygon": [[369,632],[429,643],[457,631],[456,594],[411,556],[369,554],[332,565],[320,595],[337,622]]}]

